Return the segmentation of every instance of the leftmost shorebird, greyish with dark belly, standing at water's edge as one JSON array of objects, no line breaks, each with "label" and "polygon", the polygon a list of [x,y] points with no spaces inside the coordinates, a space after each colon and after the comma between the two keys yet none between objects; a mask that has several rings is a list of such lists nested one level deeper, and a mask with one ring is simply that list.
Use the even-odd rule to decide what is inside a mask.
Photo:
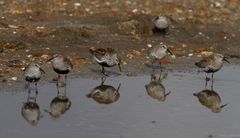
[{"label": "leftmost shorebird, greyish with dark belly, standing at water's edge", "polygon": [[30,83],[35,83],[36,92],[37,92],[37,82],[40,80],[42,73],[45,73],[44,70],[36,63],[30,63],[25,68],[24,77],[28,82],[29,92],[30,92]]}]

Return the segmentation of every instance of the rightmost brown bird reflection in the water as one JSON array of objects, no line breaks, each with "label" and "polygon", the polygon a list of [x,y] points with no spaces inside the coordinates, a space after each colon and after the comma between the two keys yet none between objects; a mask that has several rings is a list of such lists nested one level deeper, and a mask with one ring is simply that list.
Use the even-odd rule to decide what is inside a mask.
[{"label": "rightmost brown bird reflection in the water", "polygon": [[221,104],[221,98],[218,95],[217,92],[214,90],[202,90],[198,93],[194,93],[194,96],[196,96],[199,100],[199,102],[212,110],[214,113],[219,113],[221,112],[222,108],[225,107],[227,104],[220,105]]}]

